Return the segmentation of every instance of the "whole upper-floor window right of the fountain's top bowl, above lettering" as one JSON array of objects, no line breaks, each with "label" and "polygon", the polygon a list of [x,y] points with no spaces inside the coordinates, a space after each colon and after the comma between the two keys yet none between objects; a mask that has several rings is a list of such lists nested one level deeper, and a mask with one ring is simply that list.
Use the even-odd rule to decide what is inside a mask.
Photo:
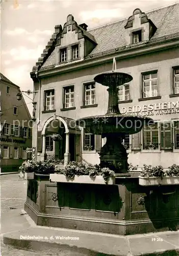
[{"label": "whole upper-floor window right of the fountain's top bowl, above lettering", "polygon": [[158,96],[157,71],[142,74],[143,98]]}]

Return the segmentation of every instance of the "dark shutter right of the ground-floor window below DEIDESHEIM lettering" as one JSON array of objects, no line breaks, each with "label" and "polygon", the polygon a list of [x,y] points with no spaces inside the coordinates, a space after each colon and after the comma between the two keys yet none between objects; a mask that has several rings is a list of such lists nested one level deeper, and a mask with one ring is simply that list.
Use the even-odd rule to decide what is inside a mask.
[{"label": "dark shutter right of the ground-floor window below DEIDESHEIM lettering", "polygon": [[161,149],[167,150],[172,148],[172,125],[171,123],[161,123]]}]

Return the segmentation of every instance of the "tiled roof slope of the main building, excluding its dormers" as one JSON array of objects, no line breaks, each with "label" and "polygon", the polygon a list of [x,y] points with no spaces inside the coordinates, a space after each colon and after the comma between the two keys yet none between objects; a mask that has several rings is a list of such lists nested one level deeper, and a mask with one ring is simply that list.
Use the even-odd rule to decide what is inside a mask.
[{"label": "tiled roof slope of the main building, excluding its dormers", "polygon": [[[140,9],[135,9],[140,10]],[[142,13],[142,12],[141,12]],[[146,13],[142,13],[142,19],[145,21],[150,20],[151,23],[155,25],[157,28],[154,35],[151,36],[148,42],[157,41],[157,40],[165,40],[167,38],[178,37],[179,36],[179,3],[162,7],[156,10],[148,11]],[[133,13],[134,14],[134,13]],[[69,16],[69,15],[68,15]],[[72,16],[72,15],[71,15]],[[73,20],[74,26],[76,29],[80,29],[83,36],[88,37],[90,40],[96,42],[96,47],[92,50],[92,52],[86,56],[86,59],[92,58],[95,56],[104,55],[112,52],[120,52],[121,50],[125,50],[130,47],[138,47],[141,44],[145,44],[146,42],[140,42],[138,44],[133,44],[131,46],[126,45],[125,41],[125,26],[127,24],[128,18],[124,18],[117,22],[107,24],[104,26],[100,26],[98,28],[94,28],[86,31],[80,25],[77,25]],[[65,25],[64,25],[65,26]],[[60,33],[57,34],[56,38],[60,37]],[[56,43],[55,43],[56,44]],[[41,60],[41,62],[37,62],[40,66],[35,66],[33,70],[41,69],[49,69],[55,67],[55,46],[50,49],[46,57]],[[37,64],[36,63],[36,64]],[[64,65],[64,64],[62,64]],[[66,65],[66,64],[65,64]]]}]

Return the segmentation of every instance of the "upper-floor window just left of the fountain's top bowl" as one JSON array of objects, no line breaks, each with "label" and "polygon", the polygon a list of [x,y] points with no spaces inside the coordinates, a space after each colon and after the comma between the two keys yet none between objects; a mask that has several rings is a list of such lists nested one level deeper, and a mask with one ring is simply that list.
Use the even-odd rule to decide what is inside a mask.
[{"label": "upper-floor window just left of the fountain's top bowl", "polygon": [[95,83],[84,84],[84,105],[93,105],[95,104]]}]

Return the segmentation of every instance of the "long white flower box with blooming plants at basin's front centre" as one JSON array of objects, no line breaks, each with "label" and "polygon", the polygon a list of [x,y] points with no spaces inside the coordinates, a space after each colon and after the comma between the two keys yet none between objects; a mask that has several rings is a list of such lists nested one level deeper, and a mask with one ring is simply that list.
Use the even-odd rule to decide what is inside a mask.
[{"label": "long white flower box with blooming plants at basin's front centre", "polygon": [[109,168],[100,169],[99,165],[85,165],[79,162],[69,162],[64,169],[56,168],[56,173],[50,174],[52,182],[73,182],[93,184],[114,184],[114,172]]}]

